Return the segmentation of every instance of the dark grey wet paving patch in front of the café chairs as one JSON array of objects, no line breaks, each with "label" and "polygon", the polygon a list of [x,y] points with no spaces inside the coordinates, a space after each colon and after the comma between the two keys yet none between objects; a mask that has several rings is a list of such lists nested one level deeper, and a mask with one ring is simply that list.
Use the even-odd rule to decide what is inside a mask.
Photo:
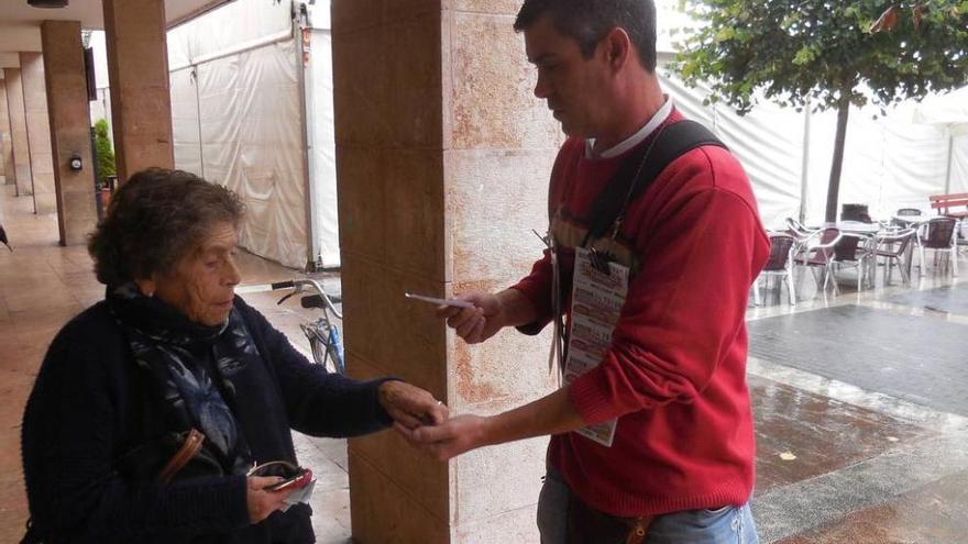
[{"label": "dark grey wet paving patch in front of the caf\u00e9 chairs", "polygon": [[[957,292],[968,293],[968,285]],[[754,321],[750,355],[968,415],[968,327],[910,308],[824,308]],[[849,363],[849,364],[848,364]]]}]

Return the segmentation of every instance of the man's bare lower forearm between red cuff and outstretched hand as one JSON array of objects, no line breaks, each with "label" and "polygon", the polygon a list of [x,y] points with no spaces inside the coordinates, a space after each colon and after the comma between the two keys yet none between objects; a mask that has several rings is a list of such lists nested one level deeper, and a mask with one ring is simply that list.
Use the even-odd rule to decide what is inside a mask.
[{"label": "man's bare lower forearm between red cuff and outstretched hand", "polygon": [[564,387],[531,403],[486,419],[484,442],[503,444],[548,434],[561,434],[585,426]]}]

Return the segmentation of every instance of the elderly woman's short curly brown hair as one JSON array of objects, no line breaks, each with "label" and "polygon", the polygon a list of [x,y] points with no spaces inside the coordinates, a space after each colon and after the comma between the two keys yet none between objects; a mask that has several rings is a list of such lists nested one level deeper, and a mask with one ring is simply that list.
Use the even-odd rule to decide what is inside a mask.
[{"label": "elderly woman's short curly brown hair", "polygon": [[139,171],[114,192],[90,235],[98,281],[118,286],[170,271],[213,226],[238,226],[243,213],[234,192],[194,174]]}]

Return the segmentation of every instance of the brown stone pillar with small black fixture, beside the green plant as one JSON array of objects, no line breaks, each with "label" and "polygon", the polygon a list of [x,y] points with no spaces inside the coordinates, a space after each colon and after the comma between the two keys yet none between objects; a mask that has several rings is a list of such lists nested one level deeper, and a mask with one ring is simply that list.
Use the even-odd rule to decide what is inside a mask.
[{"label": "brown stone pillar with small black fixture, beside the green plant", "polygon": [[[41,41],[47,73],[47,110],[51,114],[61,244],[84,244],[98,222],[98,211],[80,22],[44,21]],[[69,166],[75,156],[80,157],[84,165],[77,171]]]}]

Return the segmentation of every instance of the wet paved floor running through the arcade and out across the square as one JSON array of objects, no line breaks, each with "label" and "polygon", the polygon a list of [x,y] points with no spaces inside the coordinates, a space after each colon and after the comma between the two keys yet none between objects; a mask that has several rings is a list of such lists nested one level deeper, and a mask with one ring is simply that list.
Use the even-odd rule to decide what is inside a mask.
[{"label": "wet paved floor running through the arcade and out across the square", "polygon": [[[57,246],[55,217],[32,214],[29,199],[12,195],[11,187],[0,187],[0,223],[16,249],[0,248],[0,544],[19,542],[26,519],[19,430],[36,368],[64,322],[103,296],[85,248]],[[276,306],[276,293],[258,287],[294,273],[252,256],[242,260],[245,290],[252,291],[245,299],[307,352],[298,323],[309,314],[295,301]],[[963,256],[960,265],[963,277],[968,276],[968,259]],[[968,313],[957,303],[949,307],[955,311],[945,311],[904,296],[911,289],[954,286],[964,302],[968,282],[928,270],[912,288],[901,286],[897,274],[883,287],[879,274],[876,289],[857,293],[850,288],[854,278],[845,271],[845,292],[834,298],[817,295],[804,275],[795,309],[773,302],[748,311],[750,341],[757,346],[749,385],[758,440],[752,503],[760,539],[780,544],[968,542],[968,411],[959,409],[965,406],[960,399],[934,398],[930,384],[915,384],[930,375],[945,386],[938,395],[968,389],[968,374],[947,353],[968,354]],[[827,320],[817,319],[823,312],[849,319],[829,320],[831,330],[824,330]],[[899,317],[908,331],[887,342],[897,353],[931,353],[937,345],[946,353],[921,358],[878,352],[884,342],[877,341],[882,329],[876,326]],[[944,331],[941,340],[938,330]],[[840,335],[851,348],[870,347],[827,346],[817,349],[815,359],[803,357],[801,349],[793,357],[783,349],[789,344],[777,342],[778,331],[809,331],[818,340]],[[875,379],[883,373],[894,378]],[[348,542],[345,442],[297,436],[297,449],[318,478],[312,501],[318,541]]]}]

